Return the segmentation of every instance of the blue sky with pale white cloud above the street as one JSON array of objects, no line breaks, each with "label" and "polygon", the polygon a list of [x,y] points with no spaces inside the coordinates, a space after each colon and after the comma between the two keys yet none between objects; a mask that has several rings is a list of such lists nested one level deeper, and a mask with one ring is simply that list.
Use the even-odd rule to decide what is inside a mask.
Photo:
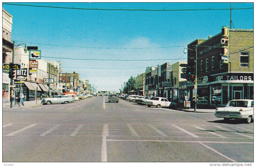
[{"label": "blue sky with pale white cloud above the street", "polygon": [[[230,3],[13,3],[97,9],[225,9]],[[45,8],[3,4],[13,16],[12,40],[38,46],[42,56],[74,59],[186,61],[184,47],[197,38],[207,39],[230,26],[230,10],[106,11]],[[250,8],[253,3],[232,3]],[[232,10],[232,28],[253,29],[253,9]],[[22,42],[21,42],[22,41]],[[44,45],[48,44],[48,45]],[[61,45],[61,46],[56,46]],[[65,47],[66,46],[66,47]],[[71,47],[69,47],[71,46]],[[76,46],[76,47],[72,47]],[[82,47],[82,48],[79,48]],[[167,47],[167,48],[166,48]],[[108,49],[104,49],[108,48]],[[126,48],[126,49],[114,49]],[[142,48],[142,49],[131,49]],[[146,49],[147,48],[147,49]],[[98,61],[65,60],[63,72],[80,74],[97,91],[119,91],[130,76],[148,66],[179,60]],[[105,69],[102,69],[105,68]],[[106,69],[108,68],[108,69]]]}]

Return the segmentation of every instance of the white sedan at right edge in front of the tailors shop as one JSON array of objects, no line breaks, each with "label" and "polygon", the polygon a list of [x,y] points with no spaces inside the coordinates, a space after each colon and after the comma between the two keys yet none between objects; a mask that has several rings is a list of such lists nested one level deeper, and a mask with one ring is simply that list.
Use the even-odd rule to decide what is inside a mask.
[{"label": "white sedan at right edge in front of the tailors shop", "polygon": [[226,107],[218,107],[215,110],[216,117],[222,117],[225,121],[230,119],[244,119],[245,123],[251,123],[253,119],[253,100],[231,100]]}]

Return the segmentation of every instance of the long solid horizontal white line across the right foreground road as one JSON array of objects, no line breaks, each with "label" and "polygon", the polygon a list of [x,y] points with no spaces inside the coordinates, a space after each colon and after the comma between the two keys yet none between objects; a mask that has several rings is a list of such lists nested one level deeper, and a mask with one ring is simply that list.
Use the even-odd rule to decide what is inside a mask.
[{"label": "long solid horizontal white line across the right foreground road", "polygon": [[174,142],[174,143],[224,143],[224,144],[254,144],[253,142],[239,142],[239,141],[190,141],[190,140],[128,140],[128,139],[107,139],[107,141],[155,141],[155,142]]}]

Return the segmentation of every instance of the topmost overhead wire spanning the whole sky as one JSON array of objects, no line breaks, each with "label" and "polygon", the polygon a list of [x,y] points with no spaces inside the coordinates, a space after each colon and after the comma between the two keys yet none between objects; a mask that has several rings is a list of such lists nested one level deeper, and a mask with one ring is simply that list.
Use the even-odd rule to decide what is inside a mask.
[{"label": "topmost overhead wire spanning the whole sky", "polygon": [[[208,9],[101,9],[101,8],[68,8],[68,7],[57,7],[57,6],[41,6],[41,5],[28,5],[28,4],[9,4],[9,3],[3,3],[7,5],[17,5],[17,6],[31,6],[31,7],[46,7],[46,8],[60,8],[60,9],[78,9],[78,10],[101,10],[101,11],[155,11],[155,12],[160,12],[160,11],[206,11],[206,10],[230,10],[230,8],[224,8],[224,9],[212,9],[209,7]],[[253,9],[252,8],[232,8],[232,10],[241,10],[241,9]]]}]

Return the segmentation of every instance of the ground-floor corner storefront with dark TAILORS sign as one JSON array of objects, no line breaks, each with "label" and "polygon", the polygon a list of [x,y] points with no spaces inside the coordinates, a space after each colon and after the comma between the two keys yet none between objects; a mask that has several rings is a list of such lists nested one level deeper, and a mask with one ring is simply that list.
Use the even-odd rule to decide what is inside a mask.
[{"label": "ground-floor corner storefront with dark TAILORS sign", "polygon": [[224,73],[198,81],[198,106],[225,106],[232,99],[253,99],[253,73]]}]

